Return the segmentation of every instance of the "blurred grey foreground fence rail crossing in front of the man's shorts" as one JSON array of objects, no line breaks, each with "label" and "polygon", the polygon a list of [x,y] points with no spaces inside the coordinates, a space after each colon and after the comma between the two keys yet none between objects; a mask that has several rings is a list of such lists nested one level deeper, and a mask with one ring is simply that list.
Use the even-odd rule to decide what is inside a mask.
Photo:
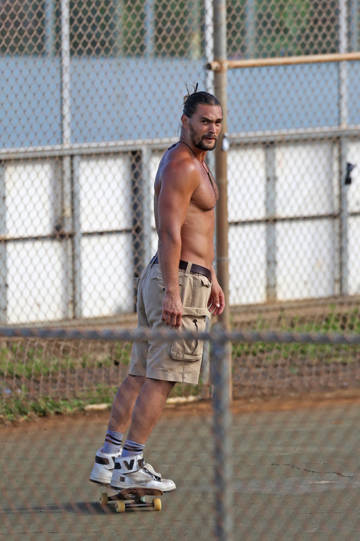
[{"label": "blurred grey foreground fence rail crossing in front of the man's shorts", "polygon": [[277,331],[252,332],[252,331],[225,331],[220,325],[215,326],[210,332],[176,331],[175,329],[159,329],[151,331],[148,328],[137,329],[83,329],[83,328],[15,328],[0,327],[1,338],[40,338],[40,339],[63,339],[63,340],[117,340],[133,341],[143,339],[156,339],[170,341],[174,339],[209,340],[211,342],[277,342],[277,343],[300,343],[300,344],[344,344],[360,345],[360,334],[355,333],[284,333]]}]

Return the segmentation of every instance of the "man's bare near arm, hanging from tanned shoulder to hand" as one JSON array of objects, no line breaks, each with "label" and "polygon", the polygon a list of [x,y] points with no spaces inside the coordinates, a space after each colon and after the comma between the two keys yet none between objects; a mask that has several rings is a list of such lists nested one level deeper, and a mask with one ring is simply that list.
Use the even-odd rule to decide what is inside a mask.
[{"label": "man's bare near arm, hanging from tanned shoulder to hand", "polygon": [[188,160],[171,162],[162,173],[158,199],[158,258],[165,284],[162,300],[162,321],[180,327],[182,304],[179,295],[179,261],[181,227],[199,177],[196,167]]}]

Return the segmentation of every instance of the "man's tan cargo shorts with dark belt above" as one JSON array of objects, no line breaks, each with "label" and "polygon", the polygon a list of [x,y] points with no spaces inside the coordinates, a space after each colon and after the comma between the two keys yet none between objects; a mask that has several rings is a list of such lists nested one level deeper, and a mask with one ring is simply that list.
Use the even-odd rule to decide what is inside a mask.
[{"label": "man's tan cargo shorts with dark belt above", "polygon": [[[211,282],[198,273],[179,269],[179,289],[182,301],[181,329],[205,331],[206,318],[210,319],[207,303]],[[164,328],[161,321],[162,299],[165,294],[159,263],[149,263],[138,283],[138,327]],[[202,358],[203,340],[178,339],[172,342],[136,340],[131,353],[130,375],[167,381],[197,383]]]}]

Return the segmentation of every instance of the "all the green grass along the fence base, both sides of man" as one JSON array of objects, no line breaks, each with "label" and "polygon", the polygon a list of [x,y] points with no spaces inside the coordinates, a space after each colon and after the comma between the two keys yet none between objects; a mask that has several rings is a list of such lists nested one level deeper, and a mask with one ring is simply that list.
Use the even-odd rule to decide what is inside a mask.
[{"label": "all the green grass along the fence base, both sides of man", "polygon": [[[251,327],[254,331],[274,330],[299,333],[360,333],[359,309],[344,308],[330,305],[324,315],[298,314],[289,316],[280,311],[277,317],[267,320],[259,315],[256,324]],[[247,326],[247,328],[249,328]],[[81,374],[82,368],[107,370],[115,366],[130,364],[130,342],[111,344],[70,341],[42,340],[2,340],[0,342],[0,381],[5,377],[18,381],[17,393],[0,394],[0,421],[29,418],[33,415],[44,416],[58,413],[83,411],[88,404],[112,404],[116,387],[98,385],[96,389],[81,391],[77,397],[51,396],[31,399],[29,397],[28,381],[37,382],[41,379],[57,380],[59,374]],[[297,374],[304,362],[307,364],[351,364],[356,362],[355,346],[346,345],[316,345],[316,344],[275,344],[267,342],[244,342],[233,344],[232,353],[234,370],[242,362],[248,365],[249,360],[256,364],[286,365],[290,374]],[[357,354],[358,355],[358,354]],[[6,380],[5,380],[6,381]],[[21,385],[21,382],[24,384]],[[10,386],[10,385],[9,385]],[[5,382],[6,387],[6,382]],[[0,386],[1,391],[1,386]],[[176,384],[171,397],[196,396],[202,391],[199,385]],[[66,393],[64,393],[66,394]],[[2,398],[3,397],[3,398]]]}]

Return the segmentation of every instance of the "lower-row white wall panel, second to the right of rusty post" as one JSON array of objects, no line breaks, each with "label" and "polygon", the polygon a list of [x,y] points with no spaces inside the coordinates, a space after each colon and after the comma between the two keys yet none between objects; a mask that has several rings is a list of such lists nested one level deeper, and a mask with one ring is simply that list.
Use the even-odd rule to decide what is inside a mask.
[{"label": "lower-row white wall panel, second to the right of rusty post", "polygon": [[276,292],[280,301],[334,295],[332,220],[276,224]]}]

